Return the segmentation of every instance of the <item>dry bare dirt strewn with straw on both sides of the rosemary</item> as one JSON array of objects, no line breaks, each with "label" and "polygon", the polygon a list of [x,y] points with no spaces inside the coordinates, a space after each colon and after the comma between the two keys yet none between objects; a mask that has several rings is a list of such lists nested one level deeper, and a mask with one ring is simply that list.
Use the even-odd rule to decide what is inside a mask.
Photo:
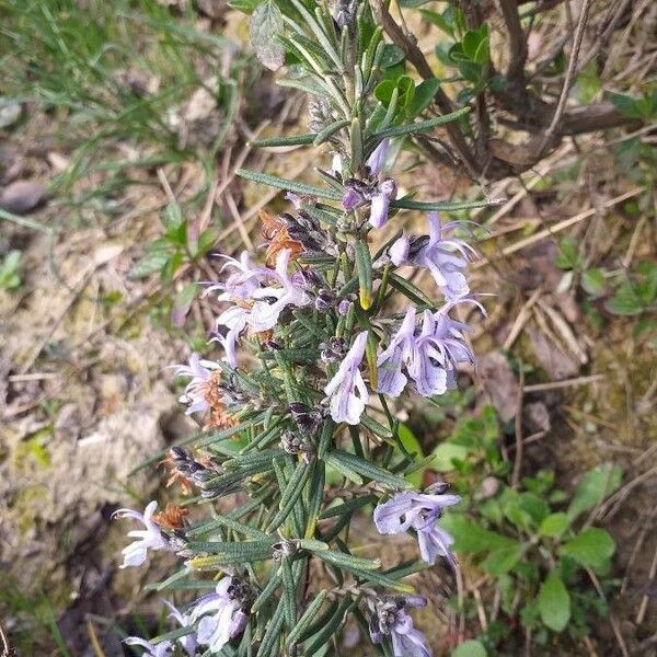
[{"label": "dry bare dirt strewn with straw on both sides of the rosemary", "polygon": [[[301,113],[299,97],[266,84],[258,93],[276,117],[267,129],[289,130]],[[303,152],[284,164],[275,152],[245,150],[245,129],[220,153],[217,180],[199,209],[224,218],[219,249],[257,244],[256,210],[269,200],[233,180],[238,161],[287,176],[308,170]],[[194,195],[197,164],[135,172],[141,180],[114,199],[118,210],[111,216],[93,207],[72,209],[44,192],[69,155],[49,132],[49,117],[35,113],[0,142],[0,191],[34,184],[19,188],[24,208],[16,215],[25,223],[4,221],[0,238],[2,253],[20,249],[24,263],[22,287],[0,290],[0,619],[21,654],[62,654],[53,633],[57,620],[59,641],[71,655],[93,655],[94,641],[105,655],[120,655],[117,626],[139,629],[140,614],[147,625],[153,622],[141,604],[142,587],[164,576],[168,564],[152,560],[148,569],[119,570],[125,528],[110,516],[168,494],[155,466],[130,472],[194,430],[166,368],[186,359],[188,336],[203,338],[212,323],[209,302],[197,301],[184,328],[175,327],[163,299],[191,280],[207,279],[217,266],[207,258],[198,272],[183,272],[164,288],[155,277],[128,277],[143,245],[161,231],[159,216],[170,195]],[[474,335],[482,366],[469,376],[476,404],[492,401],[509,417],[521,404],[522,474],[551,468],[572,491],[593,464],[623,468],[620,492],[591,514],[616,541],[621,586],[610,601],[610,623],[581,642],[578,654],[655,654],[655,350],[633,336],[633,319],[612,316],[601,304],[603,323],[592,323],[583,312],[581,290],[562,289],[563,270],[554,264],[556,242],[566,232],[587,240],[595,262],[656,262],[654,212],[637,218],[627,210],[637,185],[619,174],[603,143],[599,137],[564,142],[522,185],[509,178],[491,191],[508,203],[480,244],[484,261],[473,287],[496,298]],[[577,171],[568,177],[564,172],[574,163]],[[546,177],[552,184],[539,185]],[[415,169],[405,182],[418,180],[427,181],[422,194],[430,198],[466,188],[464,180],[430,166]],[[503,351],[532,367],[523,381],[499,359]],[[454,592],[446,573],[423,577],[419,587],[429,597]],[[468,567],[462,585],[484,597],[489,592],[485,577]],[[418,624],[436,654],[443,654],[459,618],[447,610],[438,621],[420,618]],[[364,654],[350,647],[358,644],[356,627],[347,629],[344,642],[345,654]]]}]

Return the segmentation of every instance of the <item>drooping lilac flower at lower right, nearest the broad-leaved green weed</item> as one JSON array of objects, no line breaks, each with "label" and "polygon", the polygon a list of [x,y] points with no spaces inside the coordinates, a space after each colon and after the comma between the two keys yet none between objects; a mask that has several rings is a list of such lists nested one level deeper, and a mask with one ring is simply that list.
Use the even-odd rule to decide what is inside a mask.
[{"label": "drooping lilac flower at lower right, nearest the broad-leaved green weed", "polygon": [[382,534],[399,534],[412,528],[417,532],[419,552],[426,563],[436,563],[437,556],[445,556],[453,563],[450,552],[453,539],[436,521],[442,516],[442,509],[459,502],[459,495],[397,493],[377,506],[374,525]]}]

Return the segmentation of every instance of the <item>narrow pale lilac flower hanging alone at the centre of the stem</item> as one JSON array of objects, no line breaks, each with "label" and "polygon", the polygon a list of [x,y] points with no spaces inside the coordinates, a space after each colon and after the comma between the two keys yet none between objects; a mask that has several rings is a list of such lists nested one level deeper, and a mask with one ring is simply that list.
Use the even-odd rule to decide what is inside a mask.
[{"label": "narrow pale lilac flower hanging alone at the centre of the stem", "polygon": [[337,372],[324,388],[324,392],[331,396],[331,417],[334,422],[357,425],[365,411],[369,395],[358,367],[366,345],[367,331],[364,331],[356,336]]}]

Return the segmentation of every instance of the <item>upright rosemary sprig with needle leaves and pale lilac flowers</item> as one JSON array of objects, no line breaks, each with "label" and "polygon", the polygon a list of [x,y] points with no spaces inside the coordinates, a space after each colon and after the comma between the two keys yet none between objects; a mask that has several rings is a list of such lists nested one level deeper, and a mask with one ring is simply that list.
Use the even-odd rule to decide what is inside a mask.
[{"label": "upright rosemary sprig with needle leaves and pale lilac flowers", "polygon": [[[238,171],[285,191],[289,212],[261,215],[264,263],[224,257],[222,279],[206,290],[226,302],[214,338],[220,359],[193,355],[176,369],[188,379],[181,401],[206,430],[193,449],[172,448],[168,463],[197,496],[159,514],[155,502],[143,515],[117,511],[143,525],[129,533],[124,566],[142,564],[148,550],[174,552],[180,569],[152,588],[212,592],[185,612],[171,606],[173,632],[127,643],[150,655],[323,655],[351,615],[381,655],[424,657],[412,610],[426,600],[405,578],[438,557],[453,563],[437,521],[459,497],[447,484],[412,488],[408,475],[426,463],[404,448],[389,400],[440,395],[459,364],[474,362],[468,326],[450,316],[459,303],[479,306],[465,276],[473,252],[438,211],[484,204],[400,197],[385,172],[405,140],[469,108],[416,120],[430,96],[419,90],[414,104],[400,87],[383,93],[385,67],[400,57],[367,1],[283,5],[255,10],[254,39],[267,25],[278,33],[255,48],[269,66],[287,58],[285,83],[312,96],[311,131],[255,146],[323,146],[331,168],[318,169],[316,187]],[[425,210],[428,234],[397,232],[372,252],[370,233],[404,210]],[[417,288],[408,267],[429,269],[435,287]],[[344,480],[339,491],[327,473]],[[219,511],[227,496],[233,510]],[[187,520],[193,505],[205,521]],[[383,569],[354,554],[357,512],[371,515],[381,541],[411,532],[418,558]]]}]

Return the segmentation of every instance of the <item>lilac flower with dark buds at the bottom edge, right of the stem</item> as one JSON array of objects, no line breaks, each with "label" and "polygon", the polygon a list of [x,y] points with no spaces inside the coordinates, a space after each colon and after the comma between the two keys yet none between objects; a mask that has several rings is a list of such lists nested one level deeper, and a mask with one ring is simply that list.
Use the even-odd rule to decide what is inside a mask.
[{"label": "lilac flower with dark buds at the bottom edge, right of the stem", "polygon": [[384,596],[369,602],[369,633],[372,643],[384,638],[392,641],[394,657],[431,657],[425,635],[413,627],[413,619],[406,609],[425,607],[422,596]]}]

